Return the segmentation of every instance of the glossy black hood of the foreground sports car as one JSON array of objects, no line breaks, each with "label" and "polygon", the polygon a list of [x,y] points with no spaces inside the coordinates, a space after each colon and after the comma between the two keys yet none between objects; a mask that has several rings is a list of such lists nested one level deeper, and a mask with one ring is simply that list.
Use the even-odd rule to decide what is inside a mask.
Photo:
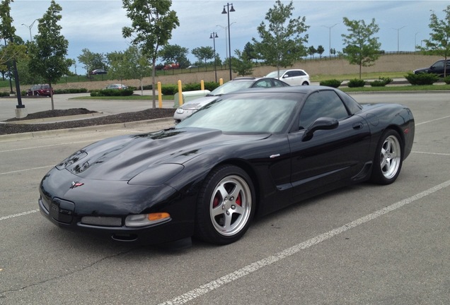
[{"label": "glossy black hood of the foreground sports car", "polygon": [[[100,140],[75,152],[57,165],[85,179],[128,181],[147,169],[164,169],[177,172],[174,167],[194,157],[217,150],[224,145],[241,145],[250,140],[267,138],[260,135],[226,135],[219,130],[204,128],[180,128],[119,136]],[[178,172],[179,172],[178,171]]]}]

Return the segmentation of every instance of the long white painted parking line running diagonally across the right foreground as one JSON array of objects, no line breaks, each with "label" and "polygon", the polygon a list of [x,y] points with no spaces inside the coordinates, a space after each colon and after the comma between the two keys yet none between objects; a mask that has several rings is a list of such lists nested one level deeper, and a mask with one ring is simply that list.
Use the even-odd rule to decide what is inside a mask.
[{"label": "long white painted parking line running diagonally across the right foreground", "polygon": [[163,303],[160,303],[158,305],[186,304],[186,303],[188,303],[188,301],[192,301],[192,299],[201,297],[202,295],[207,294],[208,292],[212,292],[214,289],[224,286],[225,284],[227,284],[229,282],[233,282],[235,280],[240,279],[241,277],[249,275],[250,273],[254,273],[255,271],[258,271],[261,268],[267,267],[268,265],[271,265],[272,263],[281,261],[283,258],[292,256],[301,250],[311,248],[311,246],[314,246],[316,244],[321,243],[322,241],[325,241],[327,239],[335,237],[337,234],[341,234],[342,232],[345,232],[349,229],[358,227],[359,225],[363,225],[364,223],[374,220],[374,219],[380,217],[381,215],[385,215],[386,213],[390,213],[394,210],[397,210],[398,208],[401,208],[404,205],[408,205],[409,203],[417,201],[420,198],[428,196],[428,195],[430,195],[436,191],[439,191],[441,189],[444,189],[448,186],[450,186],[450,180],[445,181],[444,183],[439,184],[437,186],[434,186],[431,189],[427,189],[427,191],[422,191],[422,193],[418,193],[415,196],[406,198],[403,201],[398,201],[397,203],[394,203],[393,205],[389,205],[386,208],[382,208],[381,210],[378,210],[375,213],[371,213],[369,215],[359,218],[358,220],[349,222],[349,223],[347,223],[347,225],[343,225],[342,227],[332,229],[329,232],[326,232],[326,233],[323,233],[316,237],[313,237],[312,239],[308,239],[307,241],[304,241],[300,244],[292,246],[291,248],[285,249],[284,251],[276,253],[272,256],[267,256],[266,258],[262,258],[262,260],[260,260],[260,261],[251,263],[250,265],[246,265],[246,267],[243,267],[232,273],[224,275],[223,277],[219,277],[217,280],[213,280],[212,282],[201,285],[200,287],[192,289],[191,291],[186,292],[184,294],[181,294],[180,296],[175,297],[175,298],[171,299],[170,301],[164,301]]}]

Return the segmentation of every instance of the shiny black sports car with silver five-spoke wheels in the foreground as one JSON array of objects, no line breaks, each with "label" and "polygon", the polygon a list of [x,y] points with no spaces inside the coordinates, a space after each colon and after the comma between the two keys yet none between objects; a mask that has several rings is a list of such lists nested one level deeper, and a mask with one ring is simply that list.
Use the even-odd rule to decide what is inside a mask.
[{"label": "shiny black sports car with silver five-spoke wheels in the foreground", "polygon": [[222,95],[173,128],[88,145],[40,183],[59,227],[158,244],[238,240],[255,215],[337,187],[391,184],[411,152],[400,104],[360,105],[333,88]]}]

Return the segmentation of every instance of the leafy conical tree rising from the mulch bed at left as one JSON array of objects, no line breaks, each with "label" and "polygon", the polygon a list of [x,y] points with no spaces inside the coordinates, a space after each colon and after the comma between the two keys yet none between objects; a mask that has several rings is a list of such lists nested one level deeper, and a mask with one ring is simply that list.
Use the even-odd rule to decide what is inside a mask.
[{"label": "leafy conical tree rising from the mulch bed at left", "polygon": [[[30,44],[30,71],[42,76],[50,87],[69,73],[72,64],[72,60],[66,58],[69,42],[61,34],[62,27],[58,24],[62,18],[60,11],[61,6],[52,0],[50,7],[38,20],[35,43]],[[50,92],[54,110],[53,93]]]}]

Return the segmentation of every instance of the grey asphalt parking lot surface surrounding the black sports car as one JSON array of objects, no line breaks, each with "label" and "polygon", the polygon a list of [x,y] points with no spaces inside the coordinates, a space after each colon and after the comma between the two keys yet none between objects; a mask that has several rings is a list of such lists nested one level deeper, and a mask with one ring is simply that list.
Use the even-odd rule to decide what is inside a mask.
[{"label": "grey asphalt parking lot surface surrounding the black sports car", "polygon": [[[292,205],[255,220],[229,246],[114,244],[59,229],[38,212],[37,186],[57,162],[157,124],[0,136],[0,304],[449,304],[449,92],[353,97],[412,109],[415,143],[398,180]],[[135,103],[136,111],[151,107]]]}]

